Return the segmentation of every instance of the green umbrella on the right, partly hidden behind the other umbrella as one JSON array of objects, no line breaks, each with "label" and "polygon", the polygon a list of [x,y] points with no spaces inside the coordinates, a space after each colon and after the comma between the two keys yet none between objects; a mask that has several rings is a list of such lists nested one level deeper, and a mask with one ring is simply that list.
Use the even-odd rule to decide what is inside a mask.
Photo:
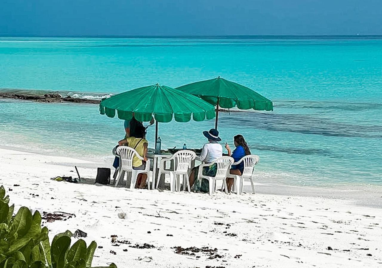
[{"label": "green umbrella on the right, partly hidden behind the other umbrella", "polygon": [[215,128],[219,115],[219,107],[239,109],[254,109],[259,111],[273,111],[273,103],[251,88],[222,77],[199,81],[177,87],[176,89],[195,95],[216,106]]}]

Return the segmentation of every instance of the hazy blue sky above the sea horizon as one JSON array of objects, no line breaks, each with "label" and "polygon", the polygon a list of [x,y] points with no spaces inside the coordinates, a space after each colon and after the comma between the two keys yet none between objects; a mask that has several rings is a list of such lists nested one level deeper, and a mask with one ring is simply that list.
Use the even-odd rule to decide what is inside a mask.
[{"label": "hazy blue sky above the sea horizon", "polygon": [[382,34],[381,0],[1,0],[0,35]]}]

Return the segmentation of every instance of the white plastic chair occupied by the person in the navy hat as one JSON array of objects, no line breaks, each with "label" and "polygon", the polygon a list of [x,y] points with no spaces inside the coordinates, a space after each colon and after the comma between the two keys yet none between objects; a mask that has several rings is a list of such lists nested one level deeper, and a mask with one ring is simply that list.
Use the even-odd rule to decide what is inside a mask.
[{"label": "white plastic chair occupied by the person in the navy hat", "polygon": [[[210,195],[215,191],[216,180],[223,180],[223,188],[226,194],[228,194],[226,178],[230,173],[230,168],[233,163],[233,158],[230,156],[222,156],[209,164],[202,164],[199,166],[198,176],[200,179],[206,179],[209,183]],[[217,164],[217,171],[215,177],[209,177],[203,175],[203,167],[209,167],[210,165]]]}]

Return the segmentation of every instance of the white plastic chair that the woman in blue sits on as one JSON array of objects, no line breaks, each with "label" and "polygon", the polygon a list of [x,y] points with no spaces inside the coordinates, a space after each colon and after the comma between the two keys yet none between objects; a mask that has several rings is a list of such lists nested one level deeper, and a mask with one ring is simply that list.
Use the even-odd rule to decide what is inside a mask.
[{"label": "white plastic chair that the woman in blue sits on", "polygon": [[237,193],[241,194],[244,189],[244,181],[245,179],[249,179],[251,181],[252,193],[255,193],[255,185],[253,182],[253,171],[255,169],[255,165],[259,163],[260,157],[254,154],[249,154],[248,156],[244,156],[238,162],[233,163],[233,165],[238,165],[241,162],[244,162],[244,170],[243,174],[233,175],[228,174],[228,178],[233,178],[233,189],[237,189]]}]

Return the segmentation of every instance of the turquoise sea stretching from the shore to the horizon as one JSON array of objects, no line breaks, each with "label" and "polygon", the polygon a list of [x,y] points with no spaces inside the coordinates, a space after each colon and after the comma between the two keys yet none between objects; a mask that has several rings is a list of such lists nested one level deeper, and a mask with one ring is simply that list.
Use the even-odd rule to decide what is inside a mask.
[{"label": "turquoise sea stretching from the shore to the horizon", "polygon": [[[381,185],[382,37],[0,38],[0,88],[101,98],[218,75],[274,101],[219,120],[260,156],[259,181]],[[160,124],[162,147],[201,148],[213,126]],[[123,134],[97,105],[0,99],[0,146],[111,162]]]}]

